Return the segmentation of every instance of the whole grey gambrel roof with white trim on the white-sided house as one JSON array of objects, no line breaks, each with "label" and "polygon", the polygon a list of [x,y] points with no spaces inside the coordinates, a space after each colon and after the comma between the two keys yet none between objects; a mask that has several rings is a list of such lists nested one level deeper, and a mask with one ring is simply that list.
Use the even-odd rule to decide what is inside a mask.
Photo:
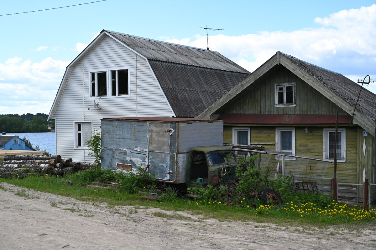
[{"label": "whole grey gambrel roof with white trim on the white-sided house", "polygon": [[195,117],[250,73],[216,51],[102,30],[68,65],[49,118],[74,65],[105,36],[147,60],[176,117]]}]

